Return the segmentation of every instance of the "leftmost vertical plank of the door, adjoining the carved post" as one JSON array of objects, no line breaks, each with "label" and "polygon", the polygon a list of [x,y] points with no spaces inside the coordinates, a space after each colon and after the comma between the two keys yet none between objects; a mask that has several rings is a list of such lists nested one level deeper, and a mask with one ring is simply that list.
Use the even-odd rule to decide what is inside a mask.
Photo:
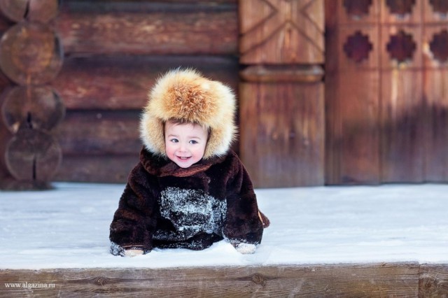
[{"label": "leftmost vertical plank of the door, adjoining the carved post", "polygon": [[[373,3],[370,13],[375,13],[376,7]],[[353,20],[342,1],[328,3],[326,9],[330,34],[325,56],[325,183],[378,184],[379,30],[365,23],[371,20],[369,16]],[[348,55],[349,40],[356,34],[372,45],[358,61]],[[354,50],[360,46],[356,43]]]}]

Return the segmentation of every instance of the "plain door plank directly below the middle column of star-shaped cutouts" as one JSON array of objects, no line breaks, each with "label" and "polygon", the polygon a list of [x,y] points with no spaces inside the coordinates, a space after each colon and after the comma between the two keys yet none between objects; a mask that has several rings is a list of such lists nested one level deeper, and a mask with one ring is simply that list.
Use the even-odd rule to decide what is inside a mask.
[{"label": "plain door plank directly below the middle column of star-shaped cutouts", "polygon": [[428,132],[422,72],[384,71],[381,85],[381,182],[423,182]]}]

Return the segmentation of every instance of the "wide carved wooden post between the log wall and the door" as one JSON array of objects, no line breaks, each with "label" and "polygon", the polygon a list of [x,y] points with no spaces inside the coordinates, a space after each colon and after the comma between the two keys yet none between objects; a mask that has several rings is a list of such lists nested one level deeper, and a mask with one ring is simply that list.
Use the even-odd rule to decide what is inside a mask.
[{"label": "wide carved wooden post between the log wall and the door", "polygon": [[323,4],[239,1],[240,155],[256,187],[323,185]]}]

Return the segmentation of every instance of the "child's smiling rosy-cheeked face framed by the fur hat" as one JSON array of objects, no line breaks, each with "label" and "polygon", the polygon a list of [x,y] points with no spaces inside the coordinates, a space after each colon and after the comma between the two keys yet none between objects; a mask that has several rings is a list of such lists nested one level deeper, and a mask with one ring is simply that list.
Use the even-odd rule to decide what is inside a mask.
[{"label": "child's smiling rosy-cheeked face framed by the fur hat", "polygon": [[169,159],[181,168],[199,162],[207,146],[208,132],[193,123],[165,123],[165,151]]}]

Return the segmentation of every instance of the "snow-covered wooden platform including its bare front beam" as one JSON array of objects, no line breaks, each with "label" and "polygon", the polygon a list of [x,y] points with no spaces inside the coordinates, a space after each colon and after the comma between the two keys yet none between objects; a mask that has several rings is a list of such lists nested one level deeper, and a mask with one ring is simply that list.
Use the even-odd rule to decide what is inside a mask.
[{"label": "snow-covered wooden platform including its bare front beam", "polygon": [[109,254],[124,185],[0,192],[0,297],[448,297],[448,185],[258,189],[254,255]]}]

